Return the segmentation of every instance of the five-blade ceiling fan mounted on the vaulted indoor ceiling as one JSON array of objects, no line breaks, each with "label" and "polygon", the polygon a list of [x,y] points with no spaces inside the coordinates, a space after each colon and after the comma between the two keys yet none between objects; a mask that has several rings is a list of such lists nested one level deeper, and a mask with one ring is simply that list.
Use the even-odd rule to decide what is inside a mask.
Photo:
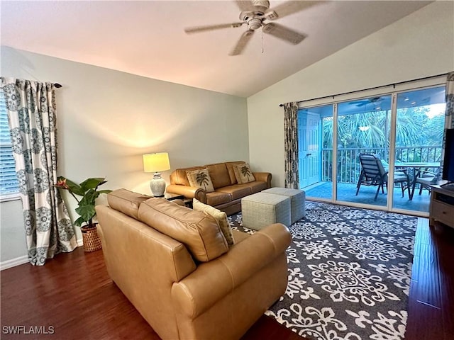
[{"label": "five-blade ceiling fan mounted on the vaulted indoor ceiling", "polygon": [[262,28],[263,33],[273,35],[276,38],[290,42],[293,45],[297,45],[299,42],[303,41],[304,38],[306,38],[306,35],[279,25],[279,23],[267,23],[265,21],[274,21],[278,18],[301,11],[309,6],[313,6],[321,1],[287,1],[284,4],[276,6],[275,8],[270,8],[270,1],[266,0],[236,0],[235,2],[241,11],[240,22],[195,26],[185,28],[184,31],[190,34],[204,32],[207,30],[218,30],[220,28],[238,28],[246,25],[248,29],[240,36],[236,46],[233,47],[233,50],[231,50],[229,55],[240,55],[250,41],[250,38],[252,38],[255,30],[258,30],[259,28]]}]

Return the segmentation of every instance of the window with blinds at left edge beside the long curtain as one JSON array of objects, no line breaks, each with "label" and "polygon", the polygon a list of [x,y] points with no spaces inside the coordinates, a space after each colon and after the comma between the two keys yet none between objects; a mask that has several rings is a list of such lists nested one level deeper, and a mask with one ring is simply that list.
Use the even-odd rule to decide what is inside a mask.
[{"label": "window with blinds at left edge beside the long curtain", "polygon": [[0,198],[3,200],[18,197],[19,189],[3,90],[0,90],[0,164]]}]

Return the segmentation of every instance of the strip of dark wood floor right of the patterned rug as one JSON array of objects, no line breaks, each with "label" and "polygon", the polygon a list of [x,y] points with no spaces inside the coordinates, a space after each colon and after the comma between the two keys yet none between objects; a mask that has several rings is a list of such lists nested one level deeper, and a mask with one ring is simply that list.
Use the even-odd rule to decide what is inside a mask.
[{"label": "strip of dark wood floor right of the patterned rug", "polygon": [[419,221],[405,339],[453,340],[454,229]]}]

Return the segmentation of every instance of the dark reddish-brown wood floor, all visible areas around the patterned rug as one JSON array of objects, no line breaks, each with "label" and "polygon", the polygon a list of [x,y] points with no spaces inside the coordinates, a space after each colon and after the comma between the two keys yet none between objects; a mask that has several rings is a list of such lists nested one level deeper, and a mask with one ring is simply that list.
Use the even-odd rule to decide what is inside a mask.
[{"label": "dark reddish-brown wood floor, all visible areas around the patterned rug", "polygon": [[[454,229],[419,219],[406,340],[454,339]],[[149,339],[159,337],[111,282],[102,251],[82,248],[43,267],[1,271],[1,339]],[[6,334],[12,326],[53,335]],[[301,339],[263,316],[244,339]]]}]

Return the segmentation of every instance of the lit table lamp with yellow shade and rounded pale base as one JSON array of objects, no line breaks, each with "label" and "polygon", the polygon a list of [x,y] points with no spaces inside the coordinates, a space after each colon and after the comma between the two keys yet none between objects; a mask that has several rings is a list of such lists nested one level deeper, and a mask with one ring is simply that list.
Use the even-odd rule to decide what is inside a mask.
[{"label": "lit table lamp with yellow shade and rounded pale base", "polygon": [[170,170],[169,154],[167,152],[143,155],[143,171],[155,173],[150,181],[150,190],[155,197],[164,196],[165,181],[161,178],[160,171],[166,170]]}]

